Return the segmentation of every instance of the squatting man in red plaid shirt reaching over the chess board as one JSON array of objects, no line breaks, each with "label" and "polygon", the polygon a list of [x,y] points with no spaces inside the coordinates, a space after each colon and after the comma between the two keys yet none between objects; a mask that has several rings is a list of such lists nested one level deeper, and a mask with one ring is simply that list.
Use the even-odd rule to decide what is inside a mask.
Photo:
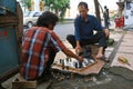
[{"label": "squatting man in red plaid shirt reaching over the chess board", "polygon": [[80,61],[83,60],[70,51],[53,32],[58,20],[55,14],[45,11],[39,17],[37,26],[23,33],[20,73],[24,79],[40,79],[45,70],[50,69],[58,51],[63,51],[66,56]]}]

